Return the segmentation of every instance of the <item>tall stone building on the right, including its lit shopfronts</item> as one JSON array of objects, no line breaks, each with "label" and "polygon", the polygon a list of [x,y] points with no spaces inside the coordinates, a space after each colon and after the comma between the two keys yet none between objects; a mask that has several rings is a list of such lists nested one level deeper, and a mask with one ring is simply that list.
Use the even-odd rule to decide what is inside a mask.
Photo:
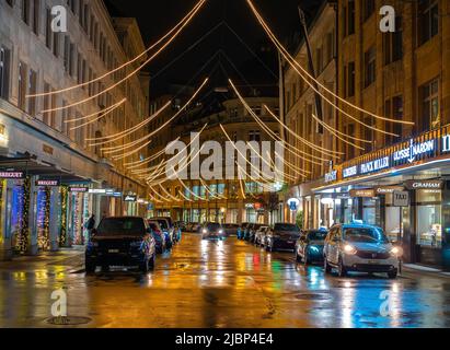
[{"label": "tall stone building on the right, including its lit shopfronts", "polygon": [[[394,33],[379,28],[384,4],[395,9]],[[382,226],[403,245],[406,261],[449,268],[450,3],[343,0],[335,10],[337,94],[414,125],[376,119],[339,102],[366,126],[338,114],[338,130],[372,142],[360,142],[359,150],[337,141],[342,159],[300,188],[332,210],[335,222]]]}]

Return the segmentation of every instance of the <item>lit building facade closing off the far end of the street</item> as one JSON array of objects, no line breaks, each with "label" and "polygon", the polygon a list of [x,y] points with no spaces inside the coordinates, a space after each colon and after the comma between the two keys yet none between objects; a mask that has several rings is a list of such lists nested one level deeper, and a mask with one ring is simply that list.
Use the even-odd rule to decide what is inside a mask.
[{"label": "lit building facade closing off the far end of the street", "polygon": [[[269,127],[269,129],[279,136],[278,124],[267,114],[263,105],[267,105],[273,110],[278,108],[277,97],[249,97],[245,98],[252,109],[258,117]],[[228,100],[222,103],[221,112],[198,117],[198,112],[205,110],[203,105],[196,105],[187,110],[181,117],[181,121],[172,131],[166,133],[165,144],[181,136],[181,140],[187,145],[193,136],[192,132],[198,132],[204,126],[206,128],[199,136],[199,144],[214,140],[221,144],[223,150],[220,158],[221,167],[223,170],[223,178],[204,179],[198,176],[198,171],[193,170],[189,165],[187,168],[187,178],[183,184],[175,179],[166,182],[162,185],[163,188],[155,187],[154,191],[150,191],[155,199],[154,215],[171,215],[175,220],[185,222],[220,222],[220,223],[274,223],[279,221],[280,209],[278,196],[274,190],[257,182],[257,178],[252,178],[252,167],[246,164],[245,172],[247,175],[242,182],[238,179],[238,166],[230,161],[232,158],[238,159],[238,153],[234,149],[230,149],[233,155],[227,155],[226,142],[229,141],[227,136],[220,128],[223,126],[228,136],[233,142],[256,142],[255,147],[261,147],[263,141],[272,142],[272,156],[274,158],[275,144],[273,139],[263,130],[253,117],[245,110],[239,100]],[[257,144],[257,145],[256,145]],[[154,149],[151,153],[158,152],[160,149]],[[188,152],[191,149],[188,150]],[[251,151],[251,150],[249,150]],[[259,151],[261,152],[261,151]],[[201,154],[199,163],[208,155]],[[250,158],[247,156],[247,160]],[[160,160],[153,163],[155,166]],[[226,178],[224,174],[228,167],[234,170],[236,175],[234,178]],[[196,179],[194,179],[196,178]],[[168,192],[175,200],[166,200]],[[165,199],[165,200],[164,200]]]}]

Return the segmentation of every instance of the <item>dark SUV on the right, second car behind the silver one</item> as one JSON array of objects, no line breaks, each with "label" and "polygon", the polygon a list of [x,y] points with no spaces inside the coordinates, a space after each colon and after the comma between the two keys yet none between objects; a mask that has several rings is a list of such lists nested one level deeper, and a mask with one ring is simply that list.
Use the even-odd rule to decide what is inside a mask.
[{"label": "dark SUV on the right, second car behind the silver one", "polygon": [[266,250],[295,250],[300,229],[292,223],[276,223],[266,236]]}]

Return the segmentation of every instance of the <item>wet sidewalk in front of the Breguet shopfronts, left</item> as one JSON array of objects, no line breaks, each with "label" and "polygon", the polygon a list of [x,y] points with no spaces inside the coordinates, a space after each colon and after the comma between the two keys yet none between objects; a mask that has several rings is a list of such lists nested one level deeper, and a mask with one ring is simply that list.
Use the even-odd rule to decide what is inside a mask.
[{"label": "wet sidewalk in front of the Breguet shopfronts, left", "polygon": [[26,270],[35,269],[37,266],[59,265],[74,268],[83,264],[84,247],[73,246],[72,248],[61,248],[58,252],[44,252],[38,255],[14,256],[12,260],[0,261],[0,270]]}]

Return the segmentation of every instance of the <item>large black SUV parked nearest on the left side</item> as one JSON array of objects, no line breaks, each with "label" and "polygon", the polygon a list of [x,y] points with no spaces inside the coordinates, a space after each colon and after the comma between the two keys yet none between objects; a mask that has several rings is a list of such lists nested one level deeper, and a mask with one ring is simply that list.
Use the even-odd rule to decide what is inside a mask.
[{"label": "large black SUV parked nearest on the left side", "polygon": [[85,249],[85,271],[97,266],[138,266],[143,272],[154,268],[155,242],[147,221],[136,217],[104,218]]}]

